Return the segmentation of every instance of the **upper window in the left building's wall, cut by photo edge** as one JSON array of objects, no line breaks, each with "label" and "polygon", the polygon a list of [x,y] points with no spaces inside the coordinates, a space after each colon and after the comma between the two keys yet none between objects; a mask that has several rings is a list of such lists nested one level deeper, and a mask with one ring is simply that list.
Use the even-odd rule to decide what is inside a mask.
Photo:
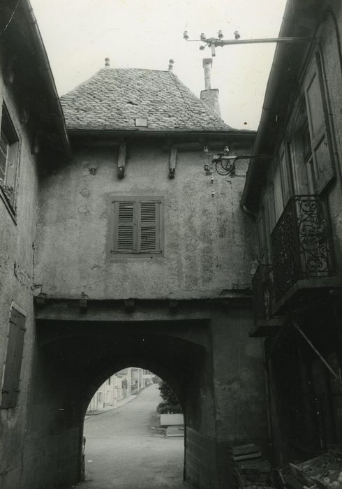
[{"label": "upper window in the left building's wall, cut by photo edge", "polygon": [[18,141],[8,110],[3,104],[0,133],[0,189],[12,208],[15,207]]}]

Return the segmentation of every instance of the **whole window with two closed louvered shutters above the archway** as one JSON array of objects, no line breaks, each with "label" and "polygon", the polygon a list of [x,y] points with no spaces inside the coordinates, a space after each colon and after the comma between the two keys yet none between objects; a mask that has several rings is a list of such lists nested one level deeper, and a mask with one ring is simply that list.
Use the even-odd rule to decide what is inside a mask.
[{"label": "whole window with two closed louvered shutters above the archway", "polygon": [[112,198],[111,256],[163,254],[163,198]]}]

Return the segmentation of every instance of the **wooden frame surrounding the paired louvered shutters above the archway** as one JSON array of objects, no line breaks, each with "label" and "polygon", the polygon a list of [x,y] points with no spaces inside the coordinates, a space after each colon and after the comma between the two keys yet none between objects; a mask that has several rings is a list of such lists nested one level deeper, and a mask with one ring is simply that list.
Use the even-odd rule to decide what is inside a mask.
[{"label": "wooden frame surrounding the paired louvered shutters above the archway", "polygon": [[[135,212],[135,225],[133,229],[133,240],[135,242],[135,250],[133,251],[119,251],[115,249],[118,221],[116,217],[117,203],[132,202],[135,206],[139,206],[140,203],[153,202],[157,205],[156,216],[156,236],[158,242],[158,250],[156,251],[138,251],[140,228],[143,224],[137,219],[137,212]],[[110,196],[110,239],[108,256],[112,259],[119,258],[154,258],[164,256],[164,198],[163,196]]]}]

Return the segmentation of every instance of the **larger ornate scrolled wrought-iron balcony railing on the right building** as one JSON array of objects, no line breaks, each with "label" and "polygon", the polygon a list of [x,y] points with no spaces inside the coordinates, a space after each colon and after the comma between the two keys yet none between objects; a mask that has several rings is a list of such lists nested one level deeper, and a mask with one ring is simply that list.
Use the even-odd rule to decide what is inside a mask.
[{"label": "larger ornate scrolled wrought-iron balcony railing on the right building", "polygon": [[292,196],[271,238],[276,300],[299,280],[335,275],[329,216],[320,196]]}]

